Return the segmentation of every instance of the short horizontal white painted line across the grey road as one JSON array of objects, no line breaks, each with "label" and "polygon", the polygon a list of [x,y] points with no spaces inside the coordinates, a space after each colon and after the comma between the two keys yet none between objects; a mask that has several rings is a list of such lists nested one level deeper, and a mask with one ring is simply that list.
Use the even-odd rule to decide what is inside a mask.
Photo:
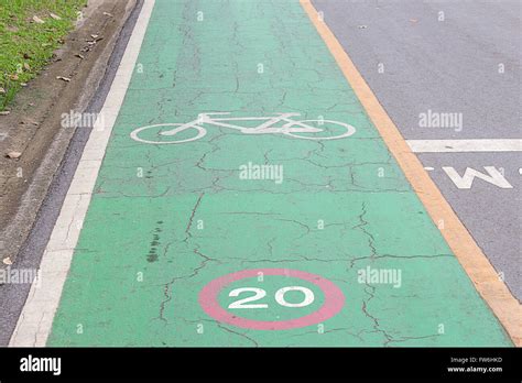
[{"label": "short horizontal white painted line across the grey road", "polygon": [[522,152],[522,140],[406,140],[414,153]]}]

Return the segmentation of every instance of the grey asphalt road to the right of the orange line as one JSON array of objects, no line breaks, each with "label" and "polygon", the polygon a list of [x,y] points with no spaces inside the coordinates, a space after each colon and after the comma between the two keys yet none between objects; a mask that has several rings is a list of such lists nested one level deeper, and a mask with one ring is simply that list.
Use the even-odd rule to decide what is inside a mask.
[{"label": "grey asphalt road to the right of the orange line", "polygon": [[[521,1],[313,3],[406,140],[522,139]],[[418,157],[520,300],[522,164],[512,146]]]}]

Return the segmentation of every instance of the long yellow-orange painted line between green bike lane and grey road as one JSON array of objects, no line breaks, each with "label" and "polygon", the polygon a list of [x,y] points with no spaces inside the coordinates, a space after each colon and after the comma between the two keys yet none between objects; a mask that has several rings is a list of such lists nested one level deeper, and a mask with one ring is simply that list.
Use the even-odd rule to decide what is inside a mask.
[{"label": "long yellow-orange painted line between green bike lane and grey road", "polygon": [[[377,127],[388,149],[395,157],[444,239],[453,250],[475,287],[488,303],[513,342],[522,346],[522,307],[501,281],[482,250],[446,201],[435,183],[379,103],[354,62],[342,50],[309,0],[300,0],[312,23],[325,41],[346,79]],[[444,228],[444,229],[441,229]]]}]

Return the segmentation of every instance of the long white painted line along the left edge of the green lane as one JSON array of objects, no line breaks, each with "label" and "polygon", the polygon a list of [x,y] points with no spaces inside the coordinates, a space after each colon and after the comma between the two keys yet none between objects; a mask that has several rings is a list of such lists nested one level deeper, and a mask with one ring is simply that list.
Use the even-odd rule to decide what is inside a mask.
[{"label": "long white painted line along the left edge of the green lane", "polygon": [[40,265],[41,284],[28,295],[10,347],[44,347],[73,260],[107,143],[129,87],[155,0],[145,0],[104,108],[95,123]]}]

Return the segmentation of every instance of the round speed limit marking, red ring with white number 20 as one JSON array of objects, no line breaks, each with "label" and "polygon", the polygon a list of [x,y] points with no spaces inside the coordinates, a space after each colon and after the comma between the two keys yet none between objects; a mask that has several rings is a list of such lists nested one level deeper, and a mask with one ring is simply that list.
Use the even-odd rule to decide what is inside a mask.
[{"label": "round speed limit marking, red ring with white number 20", "polygon": [[[228,305],[228,310],[221,307],[218,300],[219,293],[228,285],[236,281],[243,278],[257,277],[259,274],[263,275],[281,275],[301,278],[317,286],[324,294],[323,305],[308,315],[300,318],[289,320],[255,320],[238,316],[241,309],[263,309],[268,308],[269,304],[263,302],[263,298],[269,294],[263,288],[259,287],[239,287],[229,292],[229,297],[238,297],[244,293],[253,293],[248,297],[239,298]],[[302,299],[296,303],[290,303],[285,296],[289,292],[300,292]],[[304,286],[285,286],[279,288],[274,294],[276,305],[289,308],[306,307],[314,303],[314,292]],[[287,330],[292,328],[306,327],[325,321],[339,313],[345,305],[345,296],[342,292],[333,282],[316,274],[298,270],[289,269],[254,269],[243,270],[218,277],[208,283],[199,293],[199,305],[214,319],[233,325],[241,328],[249,328],[255,330]],[[232,313],[233,311],[233,313]]]}]

